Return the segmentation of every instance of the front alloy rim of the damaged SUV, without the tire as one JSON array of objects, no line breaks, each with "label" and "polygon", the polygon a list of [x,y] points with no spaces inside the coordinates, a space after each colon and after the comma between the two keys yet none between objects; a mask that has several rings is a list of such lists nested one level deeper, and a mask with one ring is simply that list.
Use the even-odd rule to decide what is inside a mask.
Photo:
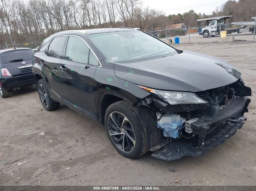
[{"label": "front alloy rim of the damaged SUV, without the tire", "polygon": [[130,121],[120,112],[112,112],[108,117],[108,132],[118,149],[125,153],[133,151],[136,144]]}]

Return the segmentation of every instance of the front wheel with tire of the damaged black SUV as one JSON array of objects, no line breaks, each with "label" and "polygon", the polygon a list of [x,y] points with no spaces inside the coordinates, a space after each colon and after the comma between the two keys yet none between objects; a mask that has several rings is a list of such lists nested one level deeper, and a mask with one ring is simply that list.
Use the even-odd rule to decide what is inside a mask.
[{"label": "front wheel with tire of the damaged black SUV", "polygon": [[105,128],[115,149],[127,158],[138,158],[148,152],[141,121],[125,101],[110,105],[105,114]]}]

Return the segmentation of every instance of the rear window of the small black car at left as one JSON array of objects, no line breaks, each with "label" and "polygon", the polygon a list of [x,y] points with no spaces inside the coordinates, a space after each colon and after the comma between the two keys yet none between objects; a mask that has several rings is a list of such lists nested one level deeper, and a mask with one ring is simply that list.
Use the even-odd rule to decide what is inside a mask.
[{"label": "rear window of the small black car at left", "polygon": [[10,62],[22,62],[25,60],[34,59],[34,51],[32,50],[16,50],[1,54],[1,58],[4,64]]}]

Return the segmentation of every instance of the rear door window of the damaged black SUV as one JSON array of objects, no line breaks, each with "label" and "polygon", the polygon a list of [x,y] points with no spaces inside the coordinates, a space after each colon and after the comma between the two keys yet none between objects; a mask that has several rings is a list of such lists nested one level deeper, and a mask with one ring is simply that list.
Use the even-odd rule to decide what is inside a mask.
[{"label": "rear door window of the damaged black SUV", "polygon": [[63,59],[65,40],[66,36],[55,37],[49,46],[48,56]]}]

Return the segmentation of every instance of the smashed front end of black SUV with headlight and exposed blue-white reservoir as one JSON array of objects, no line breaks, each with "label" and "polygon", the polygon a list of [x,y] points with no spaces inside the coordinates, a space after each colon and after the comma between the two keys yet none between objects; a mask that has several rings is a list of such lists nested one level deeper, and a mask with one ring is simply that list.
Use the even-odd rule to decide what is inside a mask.
[{"label": "smashed front end of black SUV with headlight and exposed blue-white reservoir", "polygon": [[151,95],[137,103],[150,108],[155,132],[148,145],[152,156],[171,161],[200,156],[225,142],[242,127],[251,88],[241,78],[229,85],[201,91],[160,91],[139,86]]}]

